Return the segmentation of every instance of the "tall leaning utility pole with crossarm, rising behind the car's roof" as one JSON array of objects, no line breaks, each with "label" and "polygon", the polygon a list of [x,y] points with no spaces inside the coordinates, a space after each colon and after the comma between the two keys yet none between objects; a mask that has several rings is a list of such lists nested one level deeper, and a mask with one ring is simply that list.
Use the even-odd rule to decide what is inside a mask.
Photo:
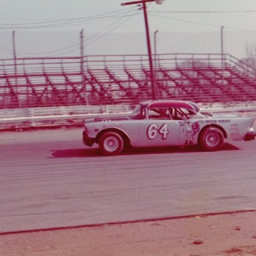
[{"label": "tall leaning utility pole with crossarm, rising behind the car's roof", "polygon": [[142,3],[144,21],[145,21],[145,29],[146,29],[147,52],[148,52],[148,55],[149,55],[150,80],[151,80],[153,99],[157,99],[157,90],[155,88],[154,69],[153,69],[153,60],[152,60],[152,53],[151,53],[151,41],[150,41],[150,35],[149,35],[149,22],[148,22],[148,19],[147,19],[147,5],[146,5],[146,3],[155,2],[158,5],[161,5],[162,1],[163,0],[141,0],[141,1],[133,1],[133,2],[127,2],[127,3],[122,3],[121,4],[121,5],[137,5],[137,4]]}]

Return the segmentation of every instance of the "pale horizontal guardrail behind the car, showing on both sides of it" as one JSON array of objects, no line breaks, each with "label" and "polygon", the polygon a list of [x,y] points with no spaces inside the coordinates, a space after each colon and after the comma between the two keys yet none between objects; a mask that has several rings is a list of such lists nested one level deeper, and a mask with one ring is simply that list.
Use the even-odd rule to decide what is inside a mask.
[{"label": "pale horizontal guardrail behind the car, showing on both sides of it", "polygon": [[[71,111],[72,110],[72,111]],[[10,109],[8,109],[10,111]],[[49,109],[48,109],[49,111]],[[83,107],[84,113],[74,113],[75,109],[61,107],[51,112],[51,115],[35,115],[29,116],[31,113],[40,113],[39,109],[23,109],[23,113],[27,113],[27,116],[3,116],[0,112],[0,131],[5,130],[20,130],[28,128],[40,128],[40,127],[58,127],[58,126],[73,126],[83,125],[83,119],[94,117],[110,117],[128,115],[131,113],[130,105],[119,105],[119,107],[113,108],[111,106],[93,106],[91,108]],[[79,108],[79,111],[81,109]],[[85,113],[87,112],[87,113]],[[92,112],[92,113],[88,113]],[[105,112],[105,113],[104,113]],[[203,107],[201,112],[208,113],[239,113],[240,115],[256,116],[256,106],[253,107]],[[16,112],[16,114],[19,112]],[[62,113],[62,114],[57,114]],[[21,114],[21,113],[19,113]],[[41,113],[42,114],[42,113]],[[10,114],[9,114],[10,115]],[[13,113],[11,113],[13,115]]]}]

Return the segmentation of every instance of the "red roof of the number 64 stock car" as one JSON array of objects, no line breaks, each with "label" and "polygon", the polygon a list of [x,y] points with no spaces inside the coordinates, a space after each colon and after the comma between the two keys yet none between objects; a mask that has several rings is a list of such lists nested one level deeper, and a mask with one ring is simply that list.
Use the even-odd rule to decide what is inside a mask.
[{"label": "red roof of the number 64 stock car", "polygon": [[191,101],[177,101],[174,99],[158,100],[158,101],[144,101],[141,103],[145,107],[181,107],[185,109],[191,109],[198,112],[200,110],[196,103]]}]

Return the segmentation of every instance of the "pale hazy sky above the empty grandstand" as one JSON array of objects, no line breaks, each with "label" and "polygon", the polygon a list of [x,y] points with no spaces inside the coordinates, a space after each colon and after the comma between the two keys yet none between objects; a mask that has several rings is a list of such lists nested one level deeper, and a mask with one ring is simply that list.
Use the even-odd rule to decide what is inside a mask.
[{"label": "pale hazy sky above the empty grandstand", "polygon": [[[0,0],[0,59],[13,41],[17,57],[79,56],[82,29],[85,55],[145,54],[143,11],[127,2]],[[256,0],[163,0],[147,13],[157,53],[219,53],[221,31],[225,53],[256,49]]]}]

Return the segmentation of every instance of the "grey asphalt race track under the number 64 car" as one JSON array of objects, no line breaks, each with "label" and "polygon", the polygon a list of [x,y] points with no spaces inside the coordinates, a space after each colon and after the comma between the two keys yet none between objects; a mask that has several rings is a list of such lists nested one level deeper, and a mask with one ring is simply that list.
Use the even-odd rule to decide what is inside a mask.
[{"label": "grey asphalt race track under the number 64 car", "polygon": [[82,129],[0,133],[0,232],[256,209],[256,141],[103,157]]}]

